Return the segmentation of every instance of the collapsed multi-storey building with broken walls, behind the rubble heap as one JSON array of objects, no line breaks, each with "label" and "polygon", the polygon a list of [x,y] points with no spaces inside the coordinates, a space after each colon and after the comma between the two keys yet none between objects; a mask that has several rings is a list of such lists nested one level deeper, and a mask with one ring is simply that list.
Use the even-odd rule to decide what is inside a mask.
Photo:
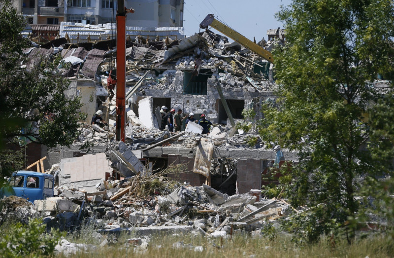
[{"label": "collapsed multi-storey building with broken walls, behind the rubble heap", "polygon": [[[59,72],[71,80],[69,94],[81,97],[84,104],[81,111],[88,115],[84,121],[85,128],[81,129],[81,136],[74,146],[47,150],[48,165],[87,154],[79,150],[87,141],[94,145],[92,153],[105,152],[115,139],[113,129],[93,131],[90,119],[97,110],[101,110],[109,119],[110,128],[115,124],[115,97],[108,98],[107,78],[111,70],[115,72],[116,40],[104,37],[112,35],[116,28],[112,24],[78,26],[62,23],[60,35],[63,37],[26,50],[32,60],[38,55],[48,59],[62,56],[63,65],[58,67]],[[103,28],[106,31],[100,34],[98,30]],[[261,174],[275,159],[275,150],[265,149],[260,142],[249,147],[248,135],[242,131],[232,132],[232,123],[243,122],[244,109],[254,110],[255,119],[260,119],[263,117],[263,103],[274,105],[272,90],[276,85],[272,65],[249,49],[236,42],[230,43],[227,37],[209,30],[190,37],[178,32],[171,35],[168,31],[165,33],[169,36],[159,36],[162,34],[158,33],[155,37],[135,36],[132,28],[129,29],[126,102],[130,127],[127,143],[133,154],[146,165],[150,164],[153,170],[182,163],[187,171],[180,175],[180,181],[196,186],[205,183],[204,176],[193,173],[197,146],[204,139],[198,133],[192,130],[174,139],[175,142],[165,143],[167,146],[147,148],[160,142],[159,139],[171,136],[159,130],[160,107],[182,109],[184,114],[194,112],[196,118],[205,114],[215,124],[207,138],[213,145],[212,158],[215,160],[209,168],[216,171],[211,179],[212,186],[227,188],[225,190],[231,193],[260,189]],[[271,45],[280,40],[274,38],[263,43],[272,48]],[[31,64],[33,61],[26,65],[29,67]],[[294,160],[296,154],[285,152],[285,157]],[[230,160],[236,160],[236,173],[230,171]],[[110,172],[108,168],[107,173]],[[228,187],[224,187],[222,183],[228,177],[232,179],[226,183]]]}]

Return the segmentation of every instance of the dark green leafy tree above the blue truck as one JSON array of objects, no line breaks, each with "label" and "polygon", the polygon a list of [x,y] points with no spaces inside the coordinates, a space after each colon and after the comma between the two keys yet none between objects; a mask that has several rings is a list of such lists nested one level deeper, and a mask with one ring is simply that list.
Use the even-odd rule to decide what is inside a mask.
[{"label": "dark green leafy tree above the blue truck", "polygon": [[[69,146],[78,135],[81,104],[68,98],[69,81],[57,73],[59,60],[38,58],[27,66],[24,50],[32,47],[22,37],[25,18],[10,0],[0,0],[0,178],[21,163],[4,150],[21,137],[48,147]],[[3,149],[3,150],[1,150]],[[19,166],[18,166],[19,164]]]}]

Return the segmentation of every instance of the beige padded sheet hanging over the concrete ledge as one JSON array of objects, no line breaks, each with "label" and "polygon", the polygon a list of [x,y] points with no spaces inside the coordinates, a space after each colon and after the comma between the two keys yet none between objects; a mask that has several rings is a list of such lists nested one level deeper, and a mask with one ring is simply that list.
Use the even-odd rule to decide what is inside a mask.
[{"label": "beige padded sheet hanging over the concrete ledge", "polygon": [[201,142],[198,144],[196,159],[194,160],[193,172],[208,178],[211,168],[212,154],[213,145],[208,142],[208,140],[201,139]]}]

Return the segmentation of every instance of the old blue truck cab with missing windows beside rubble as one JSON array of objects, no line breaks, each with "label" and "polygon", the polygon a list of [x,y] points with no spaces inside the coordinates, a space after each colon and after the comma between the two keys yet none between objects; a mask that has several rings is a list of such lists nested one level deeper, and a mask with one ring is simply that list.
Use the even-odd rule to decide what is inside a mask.
[{"label": "old blue truck cab with missing windows beside rubble", "polygon": [[30,202],[53,196],[53,176],[33,171],[18,171],[12,174],[8,185],[0,189],[0,196],[15,195]]}]

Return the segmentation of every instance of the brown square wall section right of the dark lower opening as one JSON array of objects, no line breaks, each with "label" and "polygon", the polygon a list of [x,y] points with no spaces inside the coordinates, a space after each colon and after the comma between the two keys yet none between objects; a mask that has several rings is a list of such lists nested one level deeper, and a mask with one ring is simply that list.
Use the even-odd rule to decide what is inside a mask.
[{"label": "brown square wall section right of the dark lower opening", "polygon": [[262,163],[261,159],[238,160],[237,187],[239,193],[246,193],[251,189],[261,189]]}]

